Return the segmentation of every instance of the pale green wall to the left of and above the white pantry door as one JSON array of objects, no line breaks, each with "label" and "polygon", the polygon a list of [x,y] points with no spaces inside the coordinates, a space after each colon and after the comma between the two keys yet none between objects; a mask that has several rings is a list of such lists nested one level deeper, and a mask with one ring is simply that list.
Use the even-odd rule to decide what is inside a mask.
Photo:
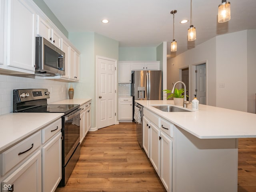
[{"label": "pale green wall to the left of and above the white pantry door", "polygon": [[74,98],[92,98],[92,128],[96,127],[96,56],[118,60],[118,41],[94,32],[69,33],[80,51],[80,80],[73,83]]}]

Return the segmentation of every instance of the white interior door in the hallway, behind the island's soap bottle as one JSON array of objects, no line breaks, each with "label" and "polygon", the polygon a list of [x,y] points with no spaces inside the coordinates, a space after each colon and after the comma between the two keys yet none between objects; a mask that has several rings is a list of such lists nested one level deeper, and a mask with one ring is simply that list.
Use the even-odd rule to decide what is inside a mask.
[{"label": "white interior door in the hallway, behind the island's soap bottle", "polygon": [[196,66],[196,96],[200,104],[206,104],[206,64]]}]

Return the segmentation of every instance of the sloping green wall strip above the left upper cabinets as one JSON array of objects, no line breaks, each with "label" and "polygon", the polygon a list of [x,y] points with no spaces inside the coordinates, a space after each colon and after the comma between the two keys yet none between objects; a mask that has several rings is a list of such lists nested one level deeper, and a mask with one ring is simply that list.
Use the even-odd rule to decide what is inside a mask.
[{"label": "sloping green wall strip above the left upper cabinets", "polygon": [[48,16],[48,18],[58,27],[58,29],[68,37],[68,31],[66,28],[61,24],[61,22],[56,18],[50,8],[45,4],[43,0],[33,0],[35,4]]}]

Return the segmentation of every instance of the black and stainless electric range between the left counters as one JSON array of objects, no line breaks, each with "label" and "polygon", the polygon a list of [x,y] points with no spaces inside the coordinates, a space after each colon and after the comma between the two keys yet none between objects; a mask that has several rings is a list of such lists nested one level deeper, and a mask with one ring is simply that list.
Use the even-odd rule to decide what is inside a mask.
[{"label": "black and stainless electric range between the left counters", "polygon": [[13,90],[13,112],[64,113],[62,118],[62,179],[65,186],[80,156],[79,104],[47,104],[48,89]]}]

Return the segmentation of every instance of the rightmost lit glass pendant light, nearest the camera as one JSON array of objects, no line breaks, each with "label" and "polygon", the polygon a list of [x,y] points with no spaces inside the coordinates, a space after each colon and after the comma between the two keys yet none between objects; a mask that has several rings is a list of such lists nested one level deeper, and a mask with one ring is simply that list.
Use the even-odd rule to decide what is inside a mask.
[{"label": "rightmost lit glass pendant light, nearest the camera", "polygon": [[218,8],[218,22],[224,23],[230,20],[230,2],[222,0]]}]

